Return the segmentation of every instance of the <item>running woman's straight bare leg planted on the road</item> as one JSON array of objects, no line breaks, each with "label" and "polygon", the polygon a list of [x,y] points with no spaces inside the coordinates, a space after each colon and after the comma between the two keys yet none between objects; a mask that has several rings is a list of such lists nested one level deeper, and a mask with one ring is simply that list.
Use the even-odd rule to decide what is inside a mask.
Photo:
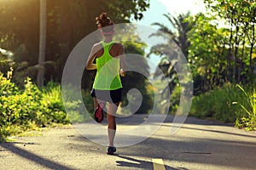
[{"label": "running woman's straight bare leg planted on the road", "polygon": [[116,131],[115,114],[118,109],[119,103],[108,105],[108,139],[109,146],[113,146],[113,139]]}]

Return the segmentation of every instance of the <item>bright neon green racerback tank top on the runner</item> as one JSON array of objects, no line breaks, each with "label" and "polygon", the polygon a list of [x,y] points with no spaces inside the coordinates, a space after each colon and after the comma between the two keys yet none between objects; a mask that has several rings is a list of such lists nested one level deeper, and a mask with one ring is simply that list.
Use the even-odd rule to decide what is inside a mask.
[{"label": "bright neon green racerback tank top on the runner", "polygon": [[115,90],[122,88],[122,82],[119,76],[119,59],[113,58],[109,54],[112,42],[101,42],[104,54],[96,58],[96,77],[93,88],[98,90]]}]

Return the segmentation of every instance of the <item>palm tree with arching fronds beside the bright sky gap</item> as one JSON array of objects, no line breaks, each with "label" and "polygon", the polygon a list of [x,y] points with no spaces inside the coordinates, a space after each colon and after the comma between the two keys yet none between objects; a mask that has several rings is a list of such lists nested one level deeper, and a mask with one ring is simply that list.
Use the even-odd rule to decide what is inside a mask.
[{"label": "palm tree with arching fronds beside the bright sky gap", "polygon": [[[171,14],[164,14],[164,16],[167,20],[170,21],[172,28],[167,27],[162,23],[154,22],[152,26],[159,26],[159,29],[154,34],[152,34],[151,37],[162,37],[164,34],[165,37],[168,37],[168,39],[170,38],[170,41],[154,45],[148,54],[158,54],[161,57],[160,63],[158,65],[160,70],[158,69],[155,71],[154,77],[158,77],[161,72],[163,72],[165,76],[169,78],[169,85],[165,88],[165,90],[161,92],[162,95],[165,95],[167,89],[174,89],[178,83],[177,72],[174,69],[174,66],[178,63],[179,52],[178,50],[170,50],[176,48],[173,42],[176,43],[176,45],[183,52],[185,58],[188,59],[188,33],[193,26],[193,23],[187,20],[190,16],[189,12],[187,14],[179,14],[177,17],[174,17]],[[172,56],[172,61],[170,61],[170,56]]]}]

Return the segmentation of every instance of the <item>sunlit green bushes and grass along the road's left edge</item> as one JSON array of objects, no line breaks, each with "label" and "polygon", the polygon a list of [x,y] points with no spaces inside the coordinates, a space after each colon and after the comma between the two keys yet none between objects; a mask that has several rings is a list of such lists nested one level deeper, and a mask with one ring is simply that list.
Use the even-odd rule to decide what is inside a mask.
[{"label": "sunlit green bushes and grass along the road's left edge", "polygon": [[[39,135],[49,127],[60,127],[76,122],[91,120],[94,107],[90,93],[81,91],[82,99],[68,99],[65,104],[61,84],[48,82],[38,88],[26,78],[24,88],[19,88],[0,72],[0,142],[14,139],[14,136]],[[67,95],[73,98],[73,88]],[[90,114],[86,114],[83,109]]]}]

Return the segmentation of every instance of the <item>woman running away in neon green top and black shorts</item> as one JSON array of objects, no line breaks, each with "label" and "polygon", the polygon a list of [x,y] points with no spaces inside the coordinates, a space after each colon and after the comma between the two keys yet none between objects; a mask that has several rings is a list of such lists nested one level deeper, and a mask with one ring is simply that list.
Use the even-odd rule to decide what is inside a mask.
[{"label": "woman running away in neon green top and black shorts", "polygon": [[[113,155],[116,148],[113,139],[116,131],[115,114],[121,101],[122,82],[125,77],[125,50],[121,43],[113,42],[114,24],[107,13],[96,17],[96,25],[102,33],[103,41],[93,45],[86,64],[87,70],[96,70],[91,96],[94,98],[96,122],[102,122],[103,108],[108,102],[108,148]],[[96,64],[94,60],[96,59]]]}]

